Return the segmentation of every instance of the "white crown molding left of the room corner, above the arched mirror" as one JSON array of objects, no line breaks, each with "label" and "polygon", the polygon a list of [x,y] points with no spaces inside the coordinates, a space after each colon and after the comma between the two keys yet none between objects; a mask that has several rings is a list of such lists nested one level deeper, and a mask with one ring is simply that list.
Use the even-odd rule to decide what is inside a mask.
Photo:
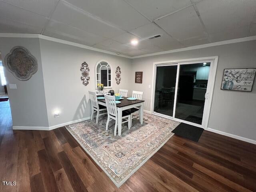
[{"label": "white crown molding left of the room corner, above the arched mirror", "polygon": [[114,55],[114,56],[119,56],[119,57],[124,57],[124,58],[129,58],[129,59],[132,58],[130,56],[126,56],[126,55],[122,55],[122,54],[118,55],[115,52],[106,51],[106,50],[94,48],[94,47],[91,47],[91,46],[87,46],[87,45],[83,45],[83,44],[79,44],[79,43],[74,43],[74,42],[71,42],[71,41],[66,41],[66,40],[62,40],[62,39],[58,39],[58,38],[54,38],[54,37],[50,37],[50,36],[46,36],[46,35],[41,35],[41,34],[0,33],[0,37],[7,37],[7,38],[40,38],[40,39],[49,40],[49,41],[53,41],[53,42],[58,42],[58,43],[71,45],[71,46],[75,46],[75,47],[80,47],[80,48],[84,48],[84,49],[88,49],[88,50],[92,50],[92,51],[102,52],[102,53],[106,53],[106,54],[110,54],[110,55]]}]

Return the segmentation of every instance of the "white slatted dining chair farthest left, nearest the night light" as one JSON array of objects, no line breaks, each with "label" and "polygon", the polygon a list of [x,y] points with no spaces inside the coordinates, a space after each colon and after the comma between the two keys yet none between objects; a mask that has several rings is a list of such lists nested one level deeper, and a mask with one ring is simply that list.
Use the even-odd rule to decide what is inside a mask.
[{"label": "white slatted dining chair farthest left, nearest the night light", "polygon": [[89,96],[91,100],[91,120],[93,120],[93,114],[96,112],[96,124],[98,124],[99,116],[106,114],[106,112],[100,113],[101,111],[106,111],[107,108],[103,105],[99,105],[96,92],[89,91]]}]

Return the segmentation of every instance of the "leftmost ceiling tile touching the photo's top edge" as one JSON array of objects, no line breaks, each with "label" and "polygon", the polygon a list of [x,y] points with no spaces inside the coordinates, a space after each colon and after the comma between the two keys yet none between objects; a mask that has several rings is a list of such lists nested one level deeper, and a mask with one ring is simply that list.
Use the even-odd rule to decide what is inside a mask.
[{"label": "leftmost ceiling tile touching the photo's top edge", "polygon": [[3,0],[9,4],[30,10],[43,16],[50,16],[58,0]]}]

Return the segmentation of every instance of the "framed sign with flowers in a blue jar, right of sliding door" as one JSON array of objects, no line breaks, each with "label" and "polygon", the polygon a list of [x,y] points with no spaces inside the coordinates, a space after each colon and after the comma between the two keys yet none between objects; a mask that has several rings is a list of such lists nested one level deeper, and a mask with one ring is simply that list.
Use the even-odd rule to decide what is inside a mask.
[{"label": "framed sign with flowers in a blue jar, right of sliding door", "polygon": [[221,89],[233,91],[252,91],[256,68],[224,69]]}]

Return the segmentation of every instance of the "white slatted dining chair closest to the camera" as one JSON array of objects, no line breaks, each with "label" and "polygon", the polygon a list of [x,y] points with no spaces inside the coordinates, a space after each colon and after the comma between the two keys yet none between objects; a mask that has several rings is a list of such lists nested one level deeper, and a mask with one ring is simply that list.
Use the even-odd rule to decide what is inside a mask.
[{"label": "white slatted dining chair closest to the camera", "polygon": [[[116,98],[115,96],[109,96],[105,95],[105,100],[106,100],[106,106],[107,106],[107,112],[108,112],[108,120],[106,123],[106,131],[108,130],[108,123],[110,122],[110,119],[115,120],[115,128],[114,128],[114,136],[116,136],[116,130],[117,130],[117,125],[118,125],[118,116],[117,116],[117,108],[116,108]],[[122,121],[123,123],[128,122],[128,129],[131,128],[131,114],[129,110],[124,110],[122,111]]]}]

